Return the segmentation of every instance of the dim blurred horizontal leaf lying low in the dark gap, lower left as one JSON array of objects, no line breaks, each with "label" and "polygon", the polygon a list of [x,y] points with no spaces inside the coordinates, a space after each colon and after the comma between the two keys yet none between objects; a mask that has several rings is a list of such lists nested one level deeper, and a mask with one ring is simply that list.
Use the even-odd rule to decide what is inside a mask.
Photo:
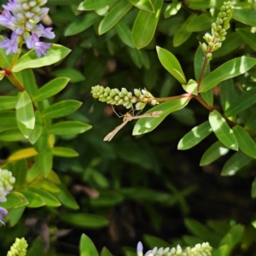
[{"label": "dim blurred horizontal leaf lying low in the dark gap, lower left", "polygon": [[90,213],[63,213],[61,220],[74,226],[90,229],[99,229],[108,226],[108,219]]}]

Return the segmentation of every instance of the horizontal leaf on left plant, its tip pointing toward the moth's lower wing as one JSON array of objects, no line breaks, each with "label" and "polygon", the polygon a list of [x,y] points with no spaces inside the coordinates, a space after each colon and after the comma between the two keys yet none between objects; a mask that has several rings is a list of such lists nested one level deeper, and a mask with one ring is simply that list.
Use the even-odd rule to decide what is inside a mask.
[{"label": "horizontal leaf on left plant, its tip pointing toward the moth's lower wing", "polygon": [[48,131],[55,135],[74,135],[88,131],[91,127],[79,121],[65,121],[49,126]]}]

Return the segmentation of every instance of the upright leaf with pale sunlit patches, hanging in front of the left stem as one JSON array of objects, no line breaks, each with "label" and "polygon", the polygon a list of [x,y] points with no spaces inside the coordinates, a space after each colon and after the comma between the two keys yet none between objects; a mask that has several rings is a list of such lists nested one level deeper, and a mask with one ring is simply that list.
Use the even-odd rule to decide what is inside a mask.
[{"label": "upright leaf with pale sunlit patches, hanging in front of the left stem", "polygon": [[19,93],[16,104],[16,119],[20,131],[27,138],[35,127],[35,113],[30,96],[26,90]]}]

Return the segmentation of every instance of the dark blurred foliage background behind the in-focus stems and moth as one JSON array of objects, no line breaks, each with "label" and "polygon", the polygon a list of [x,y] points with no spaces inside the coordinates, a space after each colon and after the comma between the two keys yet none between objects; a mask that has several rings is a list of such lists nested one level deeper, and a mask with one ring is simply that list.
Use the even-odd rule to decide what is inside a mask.
[{"label": "dark blurred foliage background behind the in-focus stems and moth", "polygon": [[[199,166],[201,155],[216,141],[214,134],[195,148],[177,151],[181,137],[207,119],[206,109],[191,101],[189,107],[169,115],[149,134],[132,137],[134,124],[130,122],[111,143],[105,143],[103,137],[121,120],[111,106],[90,95],[91,86],[96,84],[127,90],[145,87],[156,97],[183,93],[177,81],[160,65],[155,46],[172,51],[185,76],[195,77],[195,50],[212,24],[207,16],[205,27],[197,30],[191,26],[189,32],[181,29],[191,14],[207,15],[209,7],[193,8],[196,2],[208,3],[164,1],[153,40],[137,50],[130,41],[131,35],[130,40],[128,36],[139,9],[132,8],[118,26],[99,36],[104,10],[102,13],[79,11],[79,0],[48,1],[50,20],[44,20],[44,24],[54,27],[56,37],[51,42],[62,44],[72,52],[60,63],[34,70],[38,85],[55,77],[70,78],[65,90],[52,98],[52,102],[67,99],[83,102],[79,111],[66,120],[80,120],[93,126],[84,134],[56,137],[56,146],[75,148],[79,152],[76,158],[55,157],[53,164],[53,170],[74,196],[79,209],[68,200],[66,206],[58,208],[26,208],[18,224],[1,228],[1,256],[6,255],[15,237],[21,236],[25,236],[30,245],[37,245],[38,255],[47,249],[45,255],[79,255],[82,233],[90,236],[99,250],[106,246],[114,255],[134,255],[131,247],[135,248],[137,241],[145,242],[146,247],[177,243],[191,246],[209,241],[217,247],[237,223],[244,225],[237,229],[246,232],[239,238],[240,246],[232,255],[256,255],[253,245],[256,232],[250,224],[255,218],[255,201],[251,198],[255,161],[236,177],[220,176],[230,153],[210,165]],[[235,2],[241,6],[249,4]],[[172,3],[180,4],[180,9],[169,16],[166,9]],[[218,13],[223,1],[216,3],[217,7],[211,10]],[[212,69],[237,56],[255,55],[241,38],[234,36],[234,29],[244,26],[231,21],[227,41],[213,54]],[[122,35],[124,29],[128,39]],[[182,44],[177,43],[178,33],[185,33]],[[2,96],[15,93],[7,79],[1,81]],[[214,100],[218,106],[217,89]],[[124,108],[115,110],[125,113]],[[26,146],[1,141],[0,158],[6,159]],[[84,216],[84,212],[90,215]]]}]

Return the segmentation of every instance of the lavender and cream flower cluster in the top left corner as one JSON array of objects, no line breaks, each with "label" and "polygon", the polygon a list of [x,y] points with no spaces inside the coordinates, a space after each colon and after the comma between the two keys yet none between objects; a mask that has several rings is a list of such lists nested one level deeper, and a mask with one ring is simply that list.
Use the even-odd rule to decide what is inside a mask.
[{"label": "lavender and cream flower cluster in the top left corner", "polygon": [[21,52],[22,44],[28,49],[35,49],[38,57],[46,55],[51,44],[40,42],[39,38],[55,38],[52,28],[44,28],[38,24],[48,14],[49,8],[41,8],[47,0],[9,0],[3,4],[0,25],[11,29],[13,32],[10,38],[5,38],[0,43],[0,48],[6,48],[6,54]]}]

